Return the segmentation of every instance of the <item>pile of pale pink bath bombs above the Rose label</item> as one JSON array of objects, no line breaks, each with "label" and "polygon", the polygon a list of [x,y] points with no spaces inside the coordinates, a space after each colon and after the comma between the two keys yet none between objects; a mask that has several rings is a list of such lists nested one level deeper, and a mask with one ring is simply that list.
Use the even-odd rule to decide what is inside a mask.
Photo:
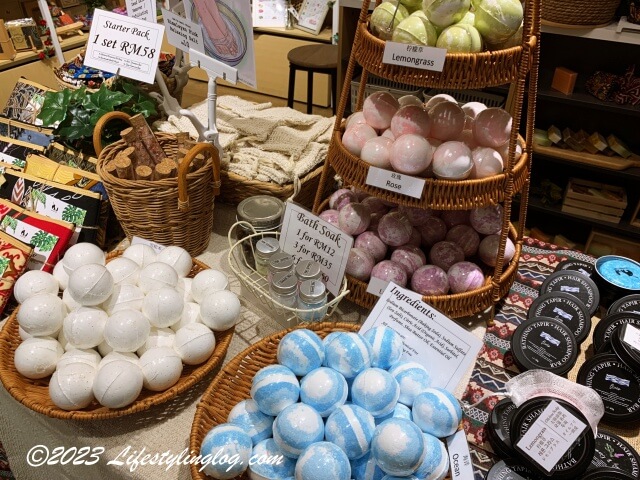
[{"label": "pile of pale pink bath bombs above the Rose label", "polygon": [[[443,180],[481,179],[507,162],[512,118],[480,102],[462,106],[447,94],[426,103],[414,95],[368,96],[342,136],[353,155],[378,168]],[[516,146],[515,158],[522,153]]]}]

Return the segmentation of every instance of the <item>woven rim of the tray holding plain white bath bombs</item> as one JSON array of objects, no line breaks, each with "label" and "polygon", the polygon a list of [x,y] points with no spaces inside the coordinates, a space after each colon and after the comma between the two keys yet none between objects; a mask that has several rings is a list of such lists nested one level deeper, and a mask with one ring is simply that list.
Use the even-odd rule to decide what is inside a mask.
[{"label": "woven rim of the tray holding plain white bath bombs", "polygon": [[[107,261],[121,256],[122,253],[123,250],[115,250],[113,252],[110,252],[109,254],[107,254]],[[196,258],[193,258],[192,260],[194,267],[197,267],[198,270],[206,270],[210,268],[208,265]],[[193,272],[194,270],[192,270],[192,273]],[[213,353],[211,354],[211,357],[209,357],[209,359],[205,363],[195,366],[193,370],[187,373],[185,373],[183,370],[178,383],[163,392],[157,392],[142,400],[137,399],[135,402],[124,408],[107,409],[106,411],[101,411],[99,413],[86,410],[67,411],[58,408],[53,404],[53,406],[50,406],[34,401],[33,398],[30,398],[26,395],[24,390],[20,390],[18,387],[16,387],[15,382],[12,381],[17,378],[19,380],[18,386],[20,384],[31,382],[30,380],[22,377],[22,375],[20,375],[17,371],[15,371],[15,367],[13,366],[13,355],[18,344],[12,342],[11,337],[12,335],[17,335],[18,333],[17,313],[18,308],[14,309],[6,324],[2,328],[2,331],[0,331],[0,382],[2,382],[9,394],[25,407],[48,417],[63,420],[92,421],[124,417],[148,410],[153,406],[160,405],[177,397],[178,395],[188,391],[191,387],[193,387],[207,374],[209,374],[220,365],[220,363],[224,360],[225,355],[227,354],[227,350],[229,349],[229,345],[231,343],[231,339],[235,330],[235,328],[230,328],[229,330],[226,330],[224,332],[214,332],[214,335],[216,336],[216,346]],[[11,364],[7,365],[7,361],[11,362]],[[47,379],[43,380],[47,381]],[[43,380],[38,380],[37,382],[43,382]],[[43,386],[43,388],[45,387]],[[106,409],[106,407],[100,406],[98,407],[98,409],[102,410]]]}]

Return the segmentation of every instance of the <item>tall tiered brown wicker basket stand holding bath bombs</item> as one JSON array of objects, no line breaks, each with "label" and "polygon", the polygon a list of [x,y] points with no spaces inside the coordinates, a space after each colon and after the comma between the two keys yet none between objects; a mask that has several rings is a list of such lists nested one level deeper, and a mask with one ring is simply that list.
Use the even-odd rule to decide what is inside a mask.
[{"label": "tall tiered brown wicker basket stand holding bath bombs", "polygon": [[[506,106],[513,116],[513,131],[509,140],[509,159],[503,173],[485,179],[446,181],[428,178],[420,199],[367,185],[369,164],[349,153],[341,141],[344,132],[342,120],[350,90],[343,88],[338,104],[333,138],[320,178],[320,188],[316,194],[314,211],[318,213],[325,208],[326,197],[329,193],[328,187],[332,184],[333,175],[336,173],[342,178],[345,185],[356,187],[369,195],[399,205],[436,210],[466,210],[501,203],[503,228],[498,257],[496,267],[492,273],[487,275],[485,285],[472,292],[424,297],[425,302],[453,318],[484,311],[494,306],[508,293],[515,279],[522,247],[529,194],[531,142],[538,84],[540,0],[525,2],[524,34],[521,45],[505,50],[476,54],[447,54],[442,72],[384,64],[382,56],[385,42],[374,37],[367,28],[369,4],[370,0],[363,1],[344,83],[347,87],[351,84],[356,64],[360,65],[362,75],[356,110],[362,109],[368,74],[394,82],[429,88],[478,89],[510,84],[511,89]],[[528,93],[525,146],[523,154],[516,160],[514,152],[518,141],[518,127],[521,123],[525,92]],[[518,193],[521,198],[520,210],[517,228],[514,228],[510,223],[510,218],[513,198]],[[516,253],[513,259],[503,266],[507,236],[514,242]],[[367,293],[367,284],[352,277],[348,277],[348,281],[351,291],[348,298],[358,305],[371,308],[377,297]]]}]

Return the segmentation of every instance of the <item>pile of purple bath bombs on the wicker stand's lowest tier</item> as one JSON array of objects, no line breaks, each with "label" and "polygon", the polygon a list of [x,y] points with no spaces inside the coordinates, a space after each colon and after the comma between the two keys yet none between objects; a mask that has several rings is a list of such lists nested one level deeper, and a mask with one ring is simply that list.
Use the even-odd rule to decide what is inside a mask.
[{"label": "pile of purple bath bombs on the wicker stand's lowest tier", "polygon": [[[421,295],[446,295],[485,285],[479,265],[495,267],[502,231],[502,206],[435,211],[397,207],[377,197],[340,189],[320,218],[354,237],[346,273],[372,277]],[[515,254],[507,238],[506,265]]]}]

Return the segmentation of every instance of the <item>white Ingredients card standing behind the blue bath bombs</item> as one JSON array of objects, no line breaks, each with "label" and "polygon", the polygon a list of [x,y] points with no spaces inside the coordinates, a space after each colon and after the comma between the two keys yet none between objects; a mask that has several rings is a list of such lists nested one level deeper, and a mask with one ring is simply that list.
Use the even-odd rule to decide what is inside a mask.
[{"label": "white Ingredients card standing behind the blue bath bombs", "polygon": [[476,360],[482,340],[422,301],[419,293],[389,283],[360,333],[387,326],[404,342],[403,359],[429,369],[432,387],[454,392]]}]

